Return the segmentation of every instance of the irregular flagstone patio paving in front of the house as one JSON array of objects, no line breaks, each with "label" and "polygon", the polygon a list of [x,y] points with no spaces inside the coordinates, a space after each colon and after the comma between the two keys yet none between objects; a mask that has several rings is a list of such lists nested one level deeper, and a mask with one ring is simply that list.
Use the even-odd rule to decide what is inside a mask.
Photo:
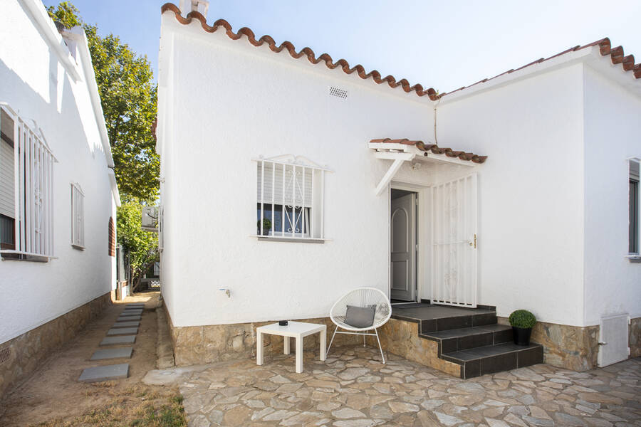
[{"label": "irregular flagstone patio paving in front of the house", "polygon": [[392,354],[381,364],[372,348],[313,356],[302,374],[282,355],[176,368],[189,426],[641,426],[641,358],[462,380]]}]

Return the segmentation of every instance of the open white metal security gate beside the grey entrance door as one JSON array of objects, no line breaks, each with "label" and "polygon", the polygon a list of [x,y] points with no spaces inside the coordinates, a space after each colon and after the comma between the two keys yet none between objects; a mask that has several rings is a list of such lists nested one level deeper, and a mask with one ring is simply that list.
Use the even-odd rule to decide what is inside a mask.
[{"label": "open white metal security gate beside the grey entrance door", "polygon": [[432,189],[432,302],[476,307],[476,174]]}]

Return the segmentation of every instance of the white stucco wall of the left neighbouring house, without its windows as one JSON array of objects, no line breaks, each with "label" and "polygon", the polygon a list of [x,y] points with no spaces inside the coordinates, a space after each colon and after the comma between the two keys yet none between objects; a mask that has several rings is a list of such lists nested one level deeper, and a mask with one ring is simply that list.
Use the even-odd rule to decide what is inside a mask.
[{"label": "white stucco wall of the left neighbouring house, without its windows", "polygon": [[[47,263],[0,261],[0,343],[112,289],[108,220],[115,201],[98,125],[82,80],[73,81],[19,1],[0,16],[0,101],[34,119],[58,159],[53,172],[54,253]],[[80,61],[80,56],[78,56]],[[85,193],[85,250],[71,247],[71,183]]]}]

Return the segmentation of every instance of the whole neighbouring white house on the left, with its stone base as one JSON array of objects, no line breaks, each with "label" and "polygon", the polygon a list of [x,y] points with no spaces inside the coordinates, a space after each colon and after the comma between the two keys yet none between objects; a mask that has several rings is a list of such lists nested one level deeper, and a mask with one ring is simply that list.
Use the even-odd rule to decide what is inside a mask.
[{"label": "whole neighbouring white house on the left, with its stone base", "polygon": [[83,29],[11,0],[0,38],[2,394],[110,302],[120,201]]}]

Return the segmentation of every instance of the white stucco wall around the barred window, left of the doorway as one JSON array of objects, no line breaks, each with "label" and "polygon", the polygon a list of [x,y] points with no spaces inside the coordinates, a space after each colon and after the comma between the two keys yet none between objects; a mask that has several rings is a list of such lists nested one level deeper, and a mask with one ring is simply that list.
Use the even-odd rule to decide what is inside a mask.
[{"label": "white stucco wall around the barred window, left of the doorway", "polygon": [[[387,292],[389,200],[374,189],[389,162],[375,159],[367,142],[426,135],[429,101],[230,41],[222,31],[181,26],[173,14],[162,25],[162,292],[174,325],[326,316],[352,288]],[[177,64],[171,76],[170,58]],[[173,87],[172,97],[163,85]],[[348,99],[331,97],[330,85],[347,89]],[[169,110],[173,116],[165,115]],[[250,237],[256,233],[251,158],[281,154],[333,170],[325,178],[329,241]],[[231,298],[219,288],[229,288]]]}]

